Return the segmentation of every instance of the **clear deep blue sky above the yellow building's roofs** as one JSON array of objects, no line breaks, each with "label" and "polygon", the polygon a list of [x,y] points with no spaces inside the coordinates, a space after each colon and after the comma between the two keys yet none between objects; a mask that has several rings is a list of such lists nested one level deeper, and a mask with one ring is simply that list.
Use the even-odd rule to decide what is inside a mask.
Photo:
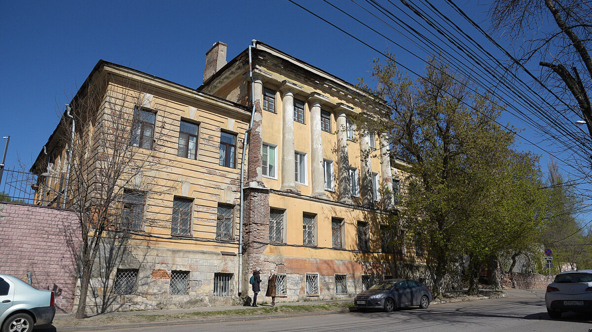
[{"label": "clear deep blue sky above the yellow building's roofs", "polygon": [[[388,47],[397,54],[398,62],[423,72],[422,60],[326,3],[296,2],[380,51]],[[350,1],[331,2],[359,15],[362,21],[379,25]],[[489,30],[486,2],[460,0],[456,4]],[[18,167],[19,162],[27,166],[33,163],[56,127],[64,104],[99,59],[197,88],[202,83],[205,52],[216,41],[228,44],[228,60],[255,38],[351,83],[368,78],[372,60],[381,57],[287,0],[1,0],[0,24],[0,137],[11,136],[6,161],[9,169]],[[468,29],[466,22],[458,24]],[[388,28],[382,31],[390,31],[388,37],[427,59],[427,54],[406,36]],[[503,121],[526,127],[510,115],[503,115]],[[523,134],[535,135],[528,131]],[[4,143],[0,141],[0,149]],[[545,154],[526,141],[520,144],[520,149]],[[543,159],[543,169],[545,163]]]}]

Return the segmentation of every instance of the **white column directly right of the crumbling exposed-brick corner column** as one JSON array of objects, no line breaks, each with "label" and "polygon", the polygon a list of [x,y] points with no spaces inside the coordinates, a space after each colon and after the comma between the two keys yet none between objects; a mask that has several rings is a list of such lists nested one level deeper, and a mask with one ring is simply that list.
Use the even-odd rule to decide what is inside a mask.
[{"label": "white column directly right of the crumbling exposed-brick corner column", "polygon": [[294,83],[284,80],[282,92],[282,186],[284,191],[297,191],[294,166]]}]

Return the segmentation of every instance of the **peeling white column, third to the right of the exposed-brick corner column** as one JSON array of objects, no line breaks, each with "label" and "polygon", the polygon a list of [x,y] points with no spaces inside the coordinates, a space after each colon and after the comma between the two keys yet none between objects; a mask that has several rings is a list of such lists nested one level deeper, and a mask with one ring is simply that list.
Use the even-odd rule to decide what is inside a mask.
[{"label": "peeling white column, third to the right of the exposed-brick corner column", "polygon": [[352,183],[349,178],[348,127],[346,111],[351,110],[339,103],[334,108],[337,118],[337,192],[339,202],[353,204],[351,197]]}]

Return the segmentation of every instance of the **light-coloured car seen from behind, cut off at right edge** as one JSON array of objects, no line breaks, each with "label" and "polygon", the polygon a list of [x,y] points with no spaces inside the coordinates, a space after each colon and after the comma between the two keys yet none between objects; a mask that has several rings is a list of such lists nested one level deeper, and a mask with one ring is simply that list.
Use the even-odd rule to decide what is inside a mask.
[{"label": "light-coloured car seen from behind, cut off at right edge", "polygon": [[592,312],[592,270],[558,273],[547,286],[545,304],[551,318],[565,311]]}]

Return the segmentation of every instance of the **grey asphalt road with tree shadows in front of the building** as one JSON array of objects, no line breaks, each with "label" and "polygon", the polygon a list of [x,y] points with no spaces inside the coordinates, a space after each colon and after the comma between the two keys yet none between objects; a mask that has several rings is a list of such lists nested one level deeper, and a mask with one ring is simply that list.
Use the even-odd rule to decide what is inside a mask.
[{"label": "grey asphalt road with tree shadows in front of the building", "polygon": [[[293,318],[261,319],[229,323],[169,325],[136,328],[143,332],[278,332],[278,331],[583,331],[592,328],[592,317],[567,313],[551,320],[546,313],[544,291],[510,289],[501,299],[430,305],[427,310],[407,308],[391,313],[348,312]],[[592,316],[592,315],[591,315]],[[107,331],[107,330],[106,330]]]}]

